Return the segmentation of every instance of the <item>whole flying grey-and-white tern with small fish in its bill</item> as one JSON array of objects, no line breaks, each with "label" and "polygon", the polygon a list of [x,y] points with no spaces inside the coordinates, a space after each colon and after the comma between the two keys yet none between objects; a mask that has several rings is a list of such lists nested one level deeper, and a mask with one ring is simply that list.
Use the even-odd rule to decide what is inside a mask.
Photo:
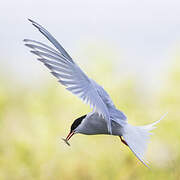
[{"label": "whole flying grey-and-white tern with small fish in its bill", "polygon": [[92,108],[92,112],[77,118],[72,123],[70,133],[63,140],[70,145],[68,141],[76,133],[119,136],[122,143],[128,146],[136,157],[148,167],[144,154],[152,134],[150,131],[166,114],[160,120],[149,125],[132,126],[128,124],[126,115],[116,108],[103,87],[81,70],[44,27],[31,19],[29,21],[54,45],[54,48],[30,39],[24,39],[25,45],[31,49],[31,53],[38,56],[37,60],[50,69],[51,73],[68,91]]}]

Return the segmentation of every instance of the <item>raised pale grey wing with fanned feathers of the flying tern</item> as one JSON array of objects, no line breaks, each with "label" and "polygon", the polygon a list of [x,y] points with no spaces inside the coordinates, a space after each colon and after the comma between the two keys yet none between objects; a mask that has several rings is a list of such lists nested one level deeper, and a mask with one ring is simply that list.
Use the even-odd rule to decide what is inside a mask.
[{"label": "raised pale grey wing with fanned feathers of the flying tern", "polygon": [[41,42],[30,39],[24,40],[25,45],[32,49],[31,52],[39,57],[38,60],[43,62],[51,70],[51,73],[58,78],[58,81],[67,90],[77,95],[83,102],[89,104],[94,111],[103,116],[107,122],[108,131],[112,134],[108,107],[98,93],[95,82],[87,77],[65,49],[46,29],[32,20],[29,21],[38,28],[58,51]]}]

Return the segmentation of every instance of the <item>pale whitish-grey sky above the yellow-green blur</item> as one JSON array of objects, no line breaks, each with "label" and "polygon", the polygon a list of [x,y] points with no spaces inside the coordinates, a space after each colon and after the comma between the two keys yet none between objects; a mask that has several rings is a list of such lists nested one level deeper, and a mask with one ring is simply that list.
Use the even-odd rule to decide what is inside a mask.
[{"label": "pale whitish-grey sky above the yellow-green blur", "polygon": [[136,75],[142,87],[161,84],[180,44],[179,0],[2,1],[0,70],[26,85],[50,76],[23,45],[24,38],[44,41],[27,18],[47,28],[82,68],[91,63],[87,48],[107,55],[110,48],[118,78]]}]

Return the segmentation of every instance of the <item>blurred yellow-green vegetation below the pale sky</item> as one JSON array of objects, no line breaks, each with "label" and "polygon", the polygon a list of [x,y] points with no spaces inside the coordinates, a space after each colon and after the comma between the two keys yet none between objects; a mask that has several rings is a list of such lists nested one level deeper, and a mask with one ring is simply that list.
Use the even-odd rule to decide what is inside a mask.
[{"label": "blurred yellow-green vegetation below the pale sky", "polygon": [[112,82],[114,67],[98,66],[94,72],[101,69],[100,73],[93,77],[101,79],[98,82],[131,124],[148,124],[169,112],[149,144],[151,169],[117,137],[75,135],[68,147],[61,137],[68,134],[75,118],[90,109],[54,78],[31,89],[11,84],[6,77],[0,86],[0,180],[180,179],[179,59],[159,93],[148,100],[143,100],[136,79]]}]

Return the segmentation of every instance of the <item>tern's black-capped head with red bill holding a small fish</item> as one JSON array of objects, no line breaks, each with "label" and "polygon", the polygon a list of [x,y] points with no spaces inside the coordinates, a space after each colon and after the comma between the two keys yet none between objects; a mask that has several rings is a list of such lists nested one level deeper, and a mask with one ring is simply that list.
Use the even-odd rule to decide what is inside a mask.
[{"label": "tern's black-capped head with red bill holding a small fish", "polygon": [[83,119],[85,119],[85,117],[86,117],[86,115],[81,116],[81,117],[75,119],[74,122],[72,123],[70,132],[69,132],[69,134],[67,135],[66,139],[64,139],[65,142],[66,142],[68,145],[70,145],[70,144],[68,143],[69,139],[70,139],[75,133],[78,133],[77,128],[78,128],[79,125],[82,123]]}]

